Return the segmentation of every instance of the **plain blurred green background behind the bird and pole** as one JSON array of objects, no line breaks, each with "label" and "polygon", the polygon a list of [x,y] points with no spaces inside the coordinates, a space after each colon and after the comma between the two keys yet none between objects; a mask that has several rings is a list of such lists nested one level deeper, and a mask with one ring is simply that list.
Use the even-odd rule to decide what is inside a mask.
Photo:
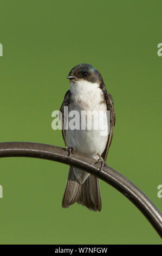
[{"label": "plain blurred green background behind the bird and pole", "polygon": [[[97,68],[113,95],[116,126],[107,162],[162,210],[161,1],[0,3],[0,141],[64,147],[51,113],[73,66]],[[100,181],[102,211],[61,208],[68,166],[38,159],[0,161],[0,243],[158,244],[141,212]]]}]

